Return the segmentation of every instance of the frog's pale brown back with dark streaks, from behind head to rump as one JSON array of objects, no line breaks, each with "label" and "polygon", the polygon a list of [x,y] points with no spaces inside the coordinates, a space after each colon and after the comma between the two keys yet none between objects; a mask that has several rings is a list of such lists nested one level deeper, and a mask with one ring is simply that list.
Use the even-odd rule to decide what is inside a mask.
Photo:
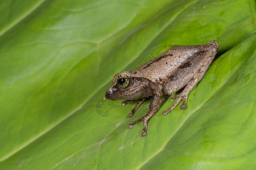
[{"label": "frog's pale brown back with dark streaks, from behind head to rump", "polygon": [[200,51],[202,45],[174,45],[160,56],[131,71],[135,76],[158,81],[173,73],[186,59]]}]

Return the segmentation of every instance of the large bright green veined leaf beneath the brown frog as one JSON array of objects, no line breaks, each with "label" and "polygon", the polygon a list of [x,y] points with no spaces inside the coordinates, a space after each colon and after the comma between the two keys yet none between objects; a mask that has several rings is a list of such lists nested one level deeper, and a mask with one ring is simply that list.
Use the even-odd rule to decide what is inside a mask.
[{"label": "large bright green veined leaf beneath the brown frog", "polygon": [[[0,7],[0,169],[253,169],[255,1],[11,1]],[[103,100],[174,44],[220,43],[186,109]]]}]

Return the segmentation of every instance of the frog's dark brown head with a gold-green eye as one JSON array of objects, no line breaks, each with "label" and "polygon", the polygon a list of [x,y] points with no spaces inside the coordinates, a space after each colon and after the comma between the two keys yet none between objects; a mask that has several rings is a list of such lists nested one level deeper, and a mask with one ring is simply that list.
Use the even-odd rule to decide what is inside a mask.
[{"label": "frog's dark brown head with a gold-green eye", "polygon": [[122,71],[113,77],[112,86],[106,91],[105,98],[110,100],[136,100],[151,95],[150,80],[133,76]]}]

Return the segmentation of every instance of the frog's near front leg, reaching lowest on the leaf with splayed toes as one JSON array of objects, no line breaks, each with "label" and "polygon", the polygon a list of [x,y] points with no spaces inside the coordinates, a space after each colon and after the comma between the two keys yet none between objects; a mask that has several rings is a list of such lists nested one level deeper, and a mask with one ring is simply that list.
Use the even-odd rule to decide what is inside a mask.
[{"label": "frog's near front leg, reaching lowest on the leaf with splayed toes", "polygon": [[155,113],[159,110],[159,106],[162,103],[162,86],[160,84],[156,84],[154,86],[154,94],[150,100],[150,108],[147,112],[147,114],[145,114],[144,116],[142,116],[142,118],[139,118],[137,121],[133,121],[130,122],[129,124],[129,128],[132,128],[133,125],[138,124],[139,122],[143,121],[143,129],[142,129],[142,134],[141,136],[144,137],[147,134],[147,121],[155,115]]}]

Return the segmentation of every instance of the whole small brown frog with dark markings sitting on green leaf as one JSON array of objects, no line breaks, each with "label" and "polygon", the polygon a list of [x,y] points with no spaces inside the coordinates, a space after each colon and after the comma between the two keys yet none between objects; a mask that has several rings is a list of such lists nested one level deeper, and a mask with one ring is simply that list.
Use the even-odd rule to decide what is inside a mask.
[{"label": "whole small brown frog with dark markings sitting on green leaf", "polygon": [[144,116],[131,121],[128,128],[143,122],[141,136],[147,134],[148,120],[158,112],[164,96],[172,96],[175,103],[162,114],[166,115],[181,103],[185,109],[189,92],[203,79],[213,62],[219,44],[212,40],[203,45],[173,45],[158,57],[132,71],[121,71],[113,77],[113,84],[105,92],[104,99],[124,100],[122,105],[137,101],[127,117],[132,117],[139,106],[150,98],[149,109]]}]

